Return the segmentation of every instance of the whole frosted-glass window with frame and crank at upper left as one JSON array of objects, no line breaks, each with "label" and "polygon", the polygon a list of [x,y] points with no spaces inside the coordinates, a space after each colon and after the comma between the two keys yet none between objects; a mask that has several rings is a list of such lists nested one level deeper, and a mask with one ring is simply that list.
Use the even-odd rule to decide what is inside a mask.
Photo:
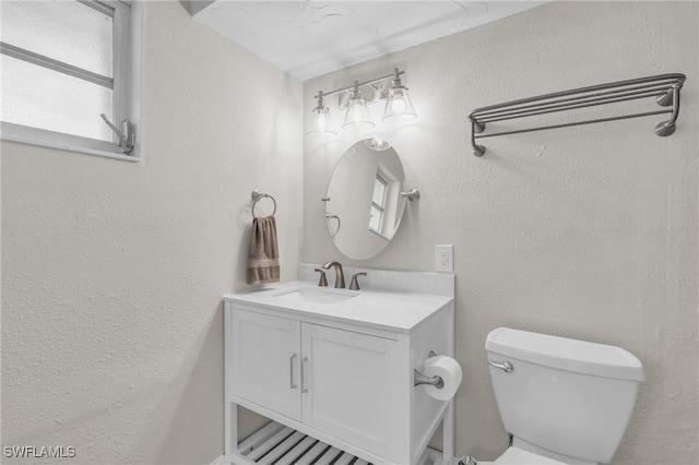
[{"label": "whole frosted-glass window with frame and crank at upper left", "polygon": [[138,2],[3,0],[1,21],[2,139],[138,159]]}]

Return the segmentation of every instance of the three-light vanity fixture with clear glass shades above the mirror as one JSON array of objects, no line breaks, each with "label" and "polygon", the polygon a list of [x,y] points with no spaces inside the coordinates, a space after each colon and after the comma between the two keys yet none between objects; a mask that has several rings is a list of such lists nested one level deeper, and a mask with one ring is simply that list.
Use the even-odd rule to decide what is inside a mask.
[{"label": "three-light vanity fixture with clear glass shades above the mirror", "polygon": [[[401,83],[400,75],[404,72],[405,71],[400,71],[395,68],[393,74],[387,76],[363,83],[355,81],[350,87],[339,88],[328,93],[320,91],[315,97],[318,99],[318,105],[313,108],[310,128],[307,133],[325,132],[337,135],[337,132],[332,126],[330,109],[325,106],[325,98],[332,95],[340,95],[340,107],[346,107],[342,123],[343,129],[374,128],[375,124],[371,120],[367,103],[372,104],[375,102],[387,100],[382,118],[384,122],[398,120],[407,121],[417,118],[415,107],[413,107],[411,97],[407,94],[407,87]],[[369,97],[365,98],[365,95]]]}]

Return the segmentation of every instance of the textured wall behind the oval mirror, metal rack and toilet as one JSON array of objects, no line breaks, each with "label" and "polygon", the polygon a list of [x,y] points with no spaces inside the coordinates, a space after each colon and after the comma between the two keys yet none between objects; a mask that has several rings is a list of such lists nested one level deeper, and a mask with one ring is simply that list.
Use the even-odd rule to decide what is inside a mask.
[{"label": "textured wall behind the oval mirror, metal rack and toilet", "polygon": [[[454,245],[460,455],[505,446],[483,346],[508,325],[636,354],[648,380],[614,464],[698,463],[698,20],[696,2],[555,2],[305,83],[310,112],[319,90],[406,71],[419,119],[376,133],[420,201],[378,257],[343,258],[320,199],[365,134],[306,136],[303,259],[429,271],[435,245]],[[489,139],[483,158],[471,154],[474,108],[670,72],[687,74],[671,138],[653,133],[663,117],[642,118]]]}]

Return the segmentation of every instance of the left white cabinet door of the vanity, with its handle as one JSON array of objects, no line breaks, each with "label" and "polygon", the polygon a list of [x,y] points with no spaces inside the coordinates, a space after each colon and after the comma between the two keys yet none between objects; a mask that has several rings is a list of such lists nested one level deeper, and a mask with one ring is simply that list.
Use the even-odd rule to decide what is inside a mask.
[{"label": "left white cabinet door of the vanity, with its handle", "polygon": [[301,420],[300,323],[234,309],[233,393]]}]

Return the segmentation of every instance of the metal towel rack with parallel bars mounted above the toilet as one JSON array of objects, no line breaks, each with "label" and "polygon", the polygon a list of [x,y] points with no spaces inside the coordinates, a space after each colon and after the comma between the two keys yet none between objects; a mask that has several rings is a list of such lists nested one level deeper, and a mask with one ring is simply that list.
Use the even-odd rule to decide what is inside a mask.
[{"label": "metal towel rack with parallel bars mounted above the toilet", "polygon": [[[571,126],[591,124],[595,122],[615,121],[662,114],[671,114],[671,117],[670,120],[660,122],[655,126],[655,133],[661,136],[671,135],[675,132],[675,121],[677,121],[677,115],[679,112],[679,90],[682,88],[686,76],[684,74],[678,73],[660,74],[656,76],[639,78],[628,81],[593,85],[590,87],[574,88],[571,91],[556,92],[553,94],[522,98],[520,100],[477,108],[469,114],[469,120],[471,120],[471,145],[473,146],[473,154],[475,156],[483,156],[483,154],[485,154],[485,147],[476,144],[476,139],[496,138],[498,135],[543,131],[546,129],[567,128]],[[657,105],[672,108],[482,134],[486,129],[486,123],[494,121],[526,118],[535,115],[616,104],[619,102],[635,100],[645,97],[655,97]]]}]

